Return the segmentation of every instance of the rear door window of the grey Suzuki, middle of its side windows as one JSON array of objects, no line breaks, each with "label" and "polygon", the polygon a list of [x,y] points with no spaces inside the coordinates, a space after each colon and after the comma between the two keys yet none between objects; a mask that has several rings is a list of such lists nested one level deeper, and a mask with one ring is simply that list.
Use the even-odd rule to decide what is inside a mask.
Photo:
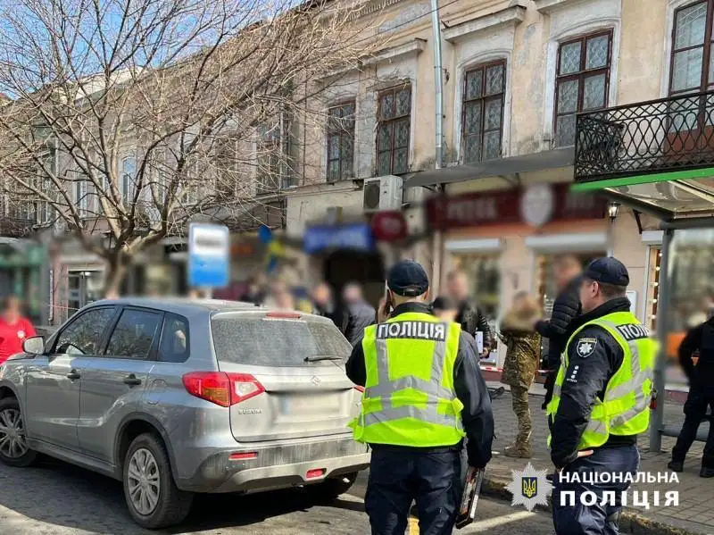
[{"label": "rear door window of the grey Suzuki, middle of its side windows", "polygon": [[161,313],[125,309],[112,331],[105,355],[118,358],[148,358],[161,324]]}]

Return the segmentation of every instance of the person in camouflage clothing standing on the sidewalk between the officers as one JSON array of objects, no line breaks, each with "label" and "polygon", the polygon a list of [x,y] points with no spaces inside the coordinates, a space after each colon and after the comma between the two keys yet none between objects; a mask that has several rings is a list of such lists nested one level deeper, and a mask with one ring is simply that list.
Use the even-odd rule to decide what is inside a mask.
[{"label": "person in camouflage clothing standing on the sidewalk between the officers", "polygon": [[505,455],[529,459],[533,426],[528,405],[528,389],[535,378],[541,355],[541,336],[533,329],[541,315],[540,306],[527,292],[513,297],[513,305],[501,321],[499,338],[506,345],[501,382],[511,387],[513,412],[519,420],[519,434]]}]

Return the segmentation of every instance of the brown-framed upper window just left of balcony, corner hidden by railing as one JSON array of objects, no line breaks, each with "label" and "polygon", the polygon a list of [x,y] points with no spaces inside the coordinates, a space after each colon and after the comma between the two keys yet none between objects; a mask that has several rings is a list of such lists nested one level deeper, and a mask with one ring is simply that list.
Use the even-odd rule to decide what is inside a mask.
[{"label": "brown-framed upper window just left of balcony, corner hidden by railing", "polygon": [[555,80],[555,146],[575,143],[578,112],[607,106],[611,55],[611,29],[560,43]]}]

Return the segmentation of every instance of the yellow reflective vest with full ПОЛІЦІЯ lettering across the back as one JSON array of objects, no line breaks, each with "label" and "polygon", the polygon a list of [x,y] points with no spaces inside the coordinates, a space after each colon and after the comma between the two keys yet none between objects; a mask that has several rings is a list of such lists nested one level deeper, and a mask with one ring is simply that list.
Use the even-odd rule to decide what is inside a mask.
[{"label": "yellow reflective vest with full \u041f\u041e\u041b\u0406\u0426\u0406\u042f lettering across the back", "polygon": [[428,313],[402,313],[364,330],[367,380],[354,439],[438,447],[464,437],[463,405],[453,389],[461,326]]}]

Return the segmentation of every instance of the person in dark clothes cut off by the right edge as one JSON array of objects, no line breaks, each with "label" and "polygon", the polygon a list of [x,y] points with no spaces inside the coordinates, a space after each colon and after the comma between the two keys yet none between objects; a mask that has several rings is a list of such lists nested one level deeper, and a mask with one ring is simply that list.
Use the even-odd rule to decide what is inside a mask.
[{"label": "person in dark clothes cut off by the right edge", "polygon": [[[699,425],[711,407],[714,414],[714,318],[690,330],[679,345],[679,362],[689,379],[689,394],[685,402],[685,423],[672,448],[668,468],[682,472],[685,456],[692,447]],[[696,364],[693,356],[698,356]],[[709,436],[702,455],[702,478],[714,477],[714,422],[709,423]]]}]

